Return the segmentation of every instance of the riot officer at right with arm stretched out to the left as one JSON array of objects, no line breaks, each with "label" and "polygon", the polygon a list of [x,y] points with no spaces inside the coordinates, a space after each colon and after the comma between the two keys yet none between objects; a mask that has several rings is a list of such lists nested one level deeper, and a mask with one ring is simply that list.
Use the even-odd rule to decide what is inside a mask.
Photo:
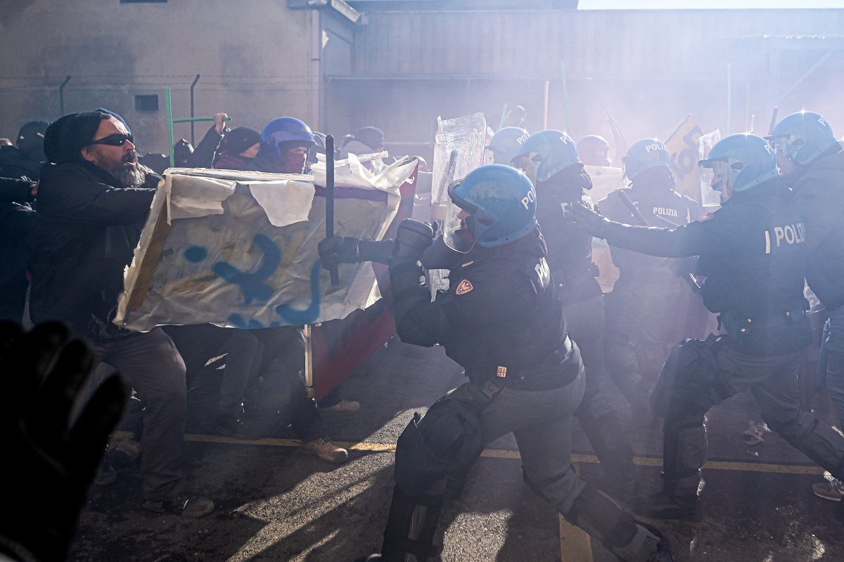
[{"label": "riot officer at right with arm stretched out to the left", "polygon": [[585,207],[574,220],[620,248],[655,256],[700,256],[703,302],[726,334],[685,340],[668,356],[651,397],[663,426],[663,490],[636,503],[647,517],[699,521],[705,415],[750,390],[763,420],[815,463],[841,478],[844,437],[800,409],[798,361],[811,330],[803,312],[803,222],[760,136],[731,135],[701,161],[722,207],[676,228],[611,222]]}]

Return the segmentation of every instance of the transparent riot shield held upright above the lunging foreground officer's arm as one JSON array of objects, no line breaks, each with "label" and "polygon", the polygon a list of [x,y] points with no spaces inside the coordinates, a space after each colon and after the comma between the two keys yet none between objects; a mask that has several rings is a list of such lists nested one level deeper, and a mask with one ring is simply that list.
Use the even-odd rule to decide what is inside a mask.
[{"label": "transparent riot shield held upright above the lunging foreground officer's arm", "polygon": [[[460,224],[457,218],[460,210],[448,198],[448,185],[481,165],[486,146],[486,129],[483,113],[456,119],[437,118],[430,220],[437,222],[441,233]],[[428,272],[432,298],[436,291],[448,288],[447,273],[446,270]]]}]

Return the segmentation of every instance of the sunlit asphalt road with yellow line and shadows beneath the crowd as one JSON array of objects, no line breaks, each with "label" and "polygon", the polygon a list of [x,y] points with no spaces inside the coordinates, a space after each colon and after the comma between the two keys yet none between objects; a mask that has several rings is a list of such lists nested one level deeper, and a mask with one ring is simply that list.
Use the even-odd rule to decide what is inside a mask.
[{"label": "sunlit asphalt road with yellow line and shadows beneath the crowd", "polygon": [[[359,412],[325,416],[328,434],[349,448],[349,462],[325,463],[300,447],[289,428],[241,442],[215,436],[213,397],[219,379],[203,377],[189,393],[188,485],[218,505],[198,520],[143,511],[138,469],[120,469],[116,484],[92,486],[68,560],[344,561],[376,552],[392,493],[393,450],[414,411],[463,382],[461,369],[435,347],[392,340],[344,383]],[[641,490],[659,487],[660,420],[631,420],[611,383],[636,451]],[[834,419],[825,396],[813,393],[816,415]],[[836,502],[811,492],[823,470],[778,436],[748,447],[749,421],[760,421],[749,394],[709,415],[709,463],[703,522],[656,522],[679,562],[808,562],[844,560],[844,516]],[[600,468],[579,427],[576,467],[586,478]],[[446,562],[609,562],[614,556],[571,527],[522,482],[512,436],[491,443],[460,500],[446,503],[440,522]]]}]

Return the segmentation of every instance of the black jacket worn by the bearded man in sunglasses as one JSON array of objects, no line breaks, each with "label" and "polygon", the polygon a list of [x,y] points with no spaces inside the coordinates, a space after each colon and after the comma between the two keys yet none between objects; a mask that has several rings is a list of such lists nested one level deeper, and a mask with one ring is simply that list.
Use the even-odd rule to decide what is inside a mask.
[{"label": "black jacket worn by the bearded man in sunglasses", "polygon": [[159,177],[125,188],[81,158],[45,166],[38,188],[30,313],[63,320],[94,340],[130,332],[111,324]]}]

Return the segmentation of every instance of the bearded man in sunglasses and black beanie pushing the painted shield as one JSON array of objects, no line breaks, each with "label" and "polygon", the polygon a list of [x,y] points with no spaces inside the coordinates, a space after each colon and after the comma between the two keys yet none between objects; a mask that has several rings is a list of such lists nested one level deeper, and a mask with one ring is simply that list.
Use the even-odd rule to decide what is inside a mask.
[{"label": "bearded man in sunglasses and black beanie pushing the painted shield", "polygon": [[51,164],[38,190],[30,314],[91,340],[97,361],[128,377],[146,403],[143,508],[203,517],[214,502],[187,492],[181,474],[185,364],[161,329],[136,333],[112,323],[160,177],[138,163],[122,120],[100,111],[55,121],[44,152]]}]

